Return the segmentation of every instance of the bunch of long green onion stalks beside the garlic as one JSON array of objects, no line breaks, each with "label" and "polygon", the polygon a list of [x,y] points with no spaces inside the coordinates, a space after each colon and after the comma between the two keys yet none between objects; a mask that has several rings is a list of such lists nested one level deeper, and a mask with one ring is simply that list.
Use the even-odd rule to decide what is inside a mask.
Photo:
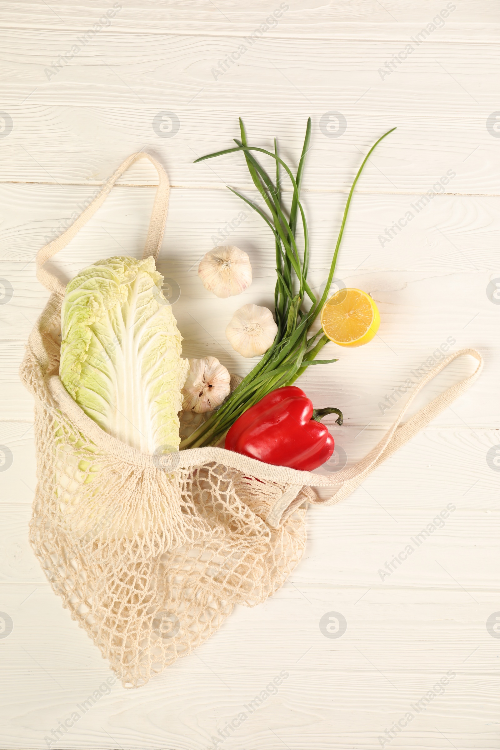
[{"label": "bunch of long green onion stalks beside the garlic", "polygon": [[[316,355],[329,340],[322,329],[319,329],[318,332],[312,335],[310,335],[310,329],[328,298],[328,291],[331,281],[334,278],[340,242],[342,242],[352,193],[354,192],[356,183],[370,154],[382,139],[395,129],[393,127],[391,130],[388,130],[387,133],[384,133],[373,144],[358,169],[351,190],[349,190],[349,196],[347,197],[337,244],[335,245],[334,257],[331,261],[330,272],[321,299],[316,299],[316,295],[313,294],[309,284],[307,284],[309,233],[307,232],[307,221],[300,199],[304,164],[310,145],[311,119],[307,120],[304,148],[302,148],[295,176],[292,174],[289,166],[279,157],[276,139],[274,140],[274,152],[267,151],[265,148],[248,145],[247,133],[245,132],[241,118],[241,139],[234,139],[236,143],[234,148],[227,148],[225,151],[217,151],[214,154],[207,154],[207,156],[196,159],[196,161],[202,161],[222,156],[223,154],[234,154],[236,151],[242,151],[244,154],[250,177],[257,190],[259,190],[262,201],[268,210],[262,210],[256,202],[241,195],[241,193],[238,193],[238,190],[233,190],[229,185],[227,187],[262,217],[274,235],[277,274],[274,290],[274,312],[277,323],[277,334],[273,344],[264,356],[262,356],[262,359],[247,377],[241,381],[222,406],[200,425],[193,434],[181,442],[179,446],[181,450],[216,445],[236,419],[244,411],[264,398],[265,395],[274,391],[274,389],[281,388],[282,386],[290,386],[292,383],[295,383],[295,380],[311,365],[325,365],[329,362],[337,362],[337,359],[316,359]],[[262,164],[257,160],[256,153],[265,154],[274,161],[274,181],[272,181],[268,172],[266,172]],[[286,172],[293,190],[292,205],[288,216],[286,215],[286,209],[283,207],[283,190],[281,187],[282,169]],[[299,252],[297,242],[299,219],[303,236],[301,253]],[[304,310],[306,298],[310,300],[310,308],[307,311]]]}]

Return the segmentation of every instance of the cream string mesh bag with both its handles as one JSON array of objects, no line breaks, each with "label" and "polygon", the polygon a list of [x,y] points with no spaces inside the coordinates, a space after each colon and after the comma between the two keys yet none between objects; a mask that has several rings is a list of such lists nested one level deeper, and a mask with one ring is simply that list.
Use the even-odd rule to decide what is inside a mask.
[{"label": "cream string mesh bag with both its handles", "polygon": [[[189,654],[220,627],[234,604],[252,607],[280,588],[304,552],[307,504],[321,502],[311,487],[340,487],[324,505],[346,497],[469,388],[482,367],[475,350],[441,362],[380,443],[334,476],[271,466],[220,448],[148,455],[109,436],[59,380],[64,287],[43,266],[142,157],[159,176],[144,251],[144,257],[157,257],[168,179],[149,154],[133,154],[73,226],[37,255],[37,276],[52,296],[31,332],[20,371],[35,401],[31,546],[63,606],[124,687],[144,685]],[[421,388],[466,354],[478,361],[475,373],[400,425]]]}]

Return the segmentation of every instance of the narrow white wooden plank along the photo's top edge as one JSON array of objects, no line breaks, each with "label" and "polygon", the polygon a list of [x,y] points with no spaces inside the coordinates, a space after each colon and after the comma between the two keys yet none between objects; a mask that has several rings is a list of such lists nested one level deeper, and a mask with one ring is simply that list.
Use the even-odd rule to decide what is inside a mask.
[{"label": "narrow white wooden plank along the photo's top edge", "polygon": [[[289,7],[277,13],[278,23],[268,20],[265,32],[268,37],[300,38],[395,38],[406,39],[422,26],[427,26],[444,9],[434,36],[442,38],[478,39],[487,42],[496,34],[496,4],[493,0],[482,0],[480,4],[463,0],[447,15],[446,5],[432,0],[426,5],[402,5],[395,0],[380,5],[376,0],[362,0],[352,5],[338,2],[331,5],[314,5],[309,2],[276,2],[255,0],[250,6],[235,5],[222,0],[217,5],[191,0],[189,7],[181,1],[171,1],[168,7],[156,2],[127,2],[127,7],[112,19],[109,31],[135,33],[196,33],[196,34],[251,34],[269,19],[280,6]],[[449,4],[448,4],[449,5]],[[91,1],[80,1],[78,5],[66,0],[52,1],[49,7],[31,2],[19,4],[6,2],[2,25],[26,28],[75,28],[85,30],[100,18],[108,7],[96,8]],[[471,21],[471,18],[473,21]]]}]

